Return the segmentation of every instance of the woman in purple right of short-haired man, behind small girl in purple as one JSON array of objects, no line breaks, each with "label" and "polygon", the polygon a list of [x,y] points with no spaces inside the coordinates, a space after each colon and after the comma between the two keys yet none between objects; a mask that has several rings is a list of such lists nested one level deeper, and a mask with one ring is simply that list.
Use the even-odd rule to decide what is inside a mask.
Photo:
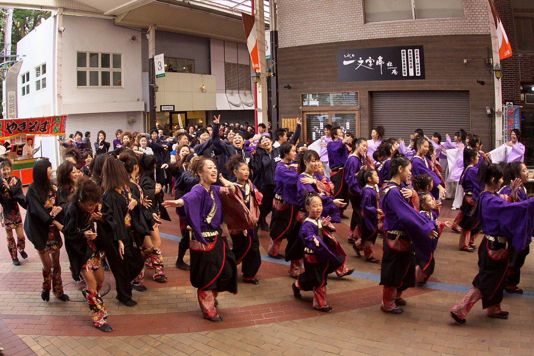
[{"label": "woman in purple right of short-haired man, behind small girl in purple", "polygon": [[358,175],[360,170],[365,170],[366,168],[374,169],[373,161],[366,153],[367,141],[364,138],[354,140],[352,142],[352,153],[345,165],[345,181],[349,186],[349,199],[352,205],[349,243],[355,243],[362,236],[362,197],[360,196],[362,187],[358,183]]}]

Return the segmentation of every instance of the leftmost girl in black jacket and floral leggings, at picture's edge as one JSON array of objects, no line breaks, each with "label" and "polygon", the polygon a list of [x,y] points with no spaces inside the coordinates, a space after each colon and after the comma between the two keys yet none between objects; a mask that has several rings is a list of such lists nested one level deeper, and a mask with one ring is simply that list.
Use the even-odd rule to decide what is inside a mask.
[{"label": "leftmost girl in black jacket and floral leggings, at picture's edge", "polygon": [[[26,209],[26,201],[22,192],[22,181],[19,177],[11,176],[13,163],[10,159],[0,161],[0,170],[2,170],[2,182],[0,185],[0,216],[2,218],[2,227],[5,228],[7,235],[7,249],[11,255],[11,260],[15,266],[20,265],[17,256],[17,248],[20,257],[26,259],[28,254],[24,251],[26,247],[26,238],[22,227],[22,217],[20,216],[20,207]],[[17,242],[13,238],[13,229],[17,234]]]}]

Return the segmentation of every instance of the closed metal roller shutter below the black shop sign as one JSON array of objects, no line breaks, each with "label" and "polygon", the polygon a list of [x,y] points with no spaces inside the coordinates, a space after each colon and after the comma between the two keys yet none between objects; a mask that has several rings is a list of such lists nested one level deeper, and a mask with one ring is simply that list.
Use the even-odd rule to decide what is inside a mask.
[{"label": "closed metal roller shutter below the black shop sign", "polygon": [[371,128],[383,125],[386,137],[409,141],[422,129],[444,140],[445,133],[471,130],[469,91],[374,91],[370,97]]}]

